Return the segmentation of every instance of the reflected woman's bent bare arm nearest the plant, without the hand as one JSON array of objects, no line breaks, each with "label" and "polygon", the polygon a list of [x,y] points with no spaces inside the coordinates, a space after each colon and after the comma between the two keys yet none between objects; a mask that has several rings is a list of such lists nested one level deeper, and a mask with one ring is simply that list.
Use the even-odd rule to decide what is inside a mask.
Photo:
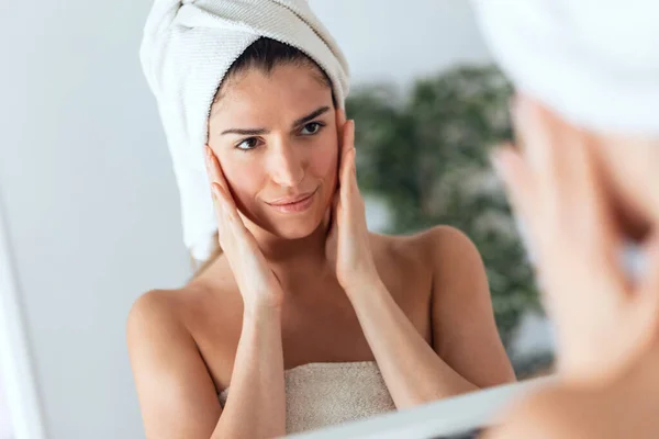
[{"label": "reflected woman's bent bare arm nearest the plant, without the hand", "polygon": [[[439,236],[446,233],[455,236]],[[433,247],[450,249],[450,255],[437,251],[433,257],[434,346],[379,279],[347,291],[398,408],[515,380],[494,325],[478,251],[457,230],[436,228],[428,238]]]}]

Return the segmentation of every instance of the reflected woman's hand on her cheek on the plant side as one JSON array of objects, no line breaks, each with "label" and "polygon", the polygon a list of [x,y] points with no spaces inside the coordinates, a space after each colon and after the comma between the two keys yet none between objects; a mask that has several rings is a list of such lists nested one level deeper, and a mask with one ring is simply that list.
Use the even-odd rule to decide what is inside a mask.
[{"label": "reflected woman's hand on her cheek on the plant side", "polygon": [[332,204],[325,254],[336,270],[338,282],[349,294],[379,278],[370,249],[364,199],[357,185],[355,122],[346,121],[344,112],[338,110],[337,126],[340,140],[338,189]]}]

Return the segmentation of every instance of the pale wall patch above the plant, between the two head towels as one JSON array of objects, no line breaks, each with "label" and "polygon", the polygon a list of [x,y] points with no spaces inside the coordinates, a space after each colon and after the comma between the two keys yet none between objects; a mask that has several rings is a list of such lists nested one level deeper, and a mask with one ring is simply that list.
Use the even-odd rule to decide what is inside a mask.
[{"label": "pale wall patch above the plant, between the two head towels", "polygon": [[310,0],[351,68],[353,81],[410,80],[491,56],[466,0]]}]

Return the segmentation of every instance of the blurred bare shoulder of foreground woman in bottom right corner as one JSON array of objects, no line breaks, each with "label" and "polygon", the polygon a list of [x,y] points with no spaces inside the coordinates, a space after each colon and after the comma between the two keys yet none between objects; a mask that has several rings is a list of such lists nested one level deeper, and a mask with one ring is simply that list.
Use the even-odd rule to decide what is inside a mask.
[{"label": "blurred bare shoulder of foreground woman in bottom right corner", "polygon": [[562,382],[537,392],[509,408],[487,438],[656,438],[657,367],[655,349],[605,385]]}]

